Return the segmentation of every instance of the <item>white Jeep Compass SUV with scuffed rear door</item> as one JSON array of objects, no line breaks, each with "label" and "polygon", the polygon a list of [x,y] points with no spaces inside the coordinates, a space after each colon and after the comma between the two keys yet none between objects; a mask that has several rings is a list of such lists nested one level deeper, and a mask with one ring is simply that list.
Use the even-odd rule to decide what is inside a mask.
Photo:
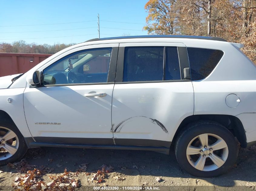
[{"label": "white Jeep Compass SUV with scuffed rear door", "polygon": [[27,148],[169,153],[199,177],[256,142],[256,67],[217,37],[92,39],[0,78],[0,165]]}]

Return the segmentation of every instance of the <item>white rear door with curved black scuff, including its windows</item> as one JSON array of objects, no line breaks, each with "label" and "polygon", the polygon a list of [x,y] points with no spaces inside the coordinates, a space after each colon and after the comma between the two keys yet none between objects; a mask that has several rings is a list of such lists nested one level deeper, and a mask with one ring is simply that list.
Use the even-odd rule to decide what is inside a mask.
[{"label": "white rear door with curved black scuff, including its windows", "polygon": [[169,147],[194,92],[183,43],[120,43],[112,100],[116,145]]}]

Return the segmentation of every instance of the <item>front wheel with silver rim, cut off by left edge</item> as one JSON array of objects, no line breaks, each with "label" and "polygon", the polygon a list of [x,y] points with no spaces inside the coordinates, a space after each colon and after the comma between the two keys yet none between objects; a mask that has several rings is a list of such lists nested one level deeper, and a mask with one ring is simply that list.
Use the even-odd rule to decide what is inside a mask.
[{"label": "front wheel with silver rim, cut off by left edge", "polygon": [[16,126],[0,125],[0,166],[22,158],[27,149],[25,140]]}]

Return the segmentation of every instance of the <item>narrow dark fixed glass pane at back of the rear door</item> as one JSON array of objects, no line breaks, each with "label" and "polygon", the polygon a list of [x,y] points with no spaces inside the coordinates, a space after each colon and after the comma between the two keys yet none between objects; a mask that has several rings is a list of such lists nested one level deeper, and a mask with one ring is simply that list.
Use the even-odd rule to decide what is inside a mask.
[{"label": "narrow dark fixed glass pane at back of the rear door", "polygon": [[165,80],[180,80],[181,70],[176,46],[166,47]]}]

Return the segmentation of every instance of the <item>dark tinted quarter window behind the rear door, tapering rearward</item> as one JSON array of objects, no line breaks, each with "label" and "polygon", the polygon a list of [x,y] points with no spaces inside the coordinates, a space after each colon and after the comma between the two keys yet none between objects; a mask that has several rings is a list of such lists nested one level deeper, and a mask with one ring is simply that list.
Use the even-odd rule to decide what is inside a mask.
[{"label": "dark tinted quarter window behind the rear door, tapering rearward", "polygon": [[191,71],[191,80],[206,78],[223,56],[221,50],[187,48]]}]

